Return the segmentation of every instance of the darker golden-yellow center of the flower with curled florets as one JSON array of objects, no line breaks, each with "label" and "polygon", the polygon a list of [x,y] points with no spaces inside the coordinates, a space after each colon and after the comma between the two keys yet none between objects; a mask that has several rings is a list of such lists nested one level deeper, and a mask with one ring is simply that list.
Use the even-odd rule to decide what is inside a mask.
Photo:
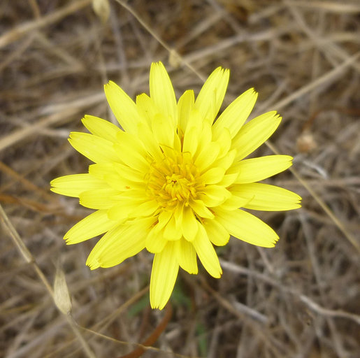
[{"label": "darker golden-yellow center of the flower with curled florets", "polygon": [[147,192],[164,208],[175,208],[178,203],[188,206],[189,200],[196,199],[203,188],[200,173],[188,152],[153,162],[147,174]]}]

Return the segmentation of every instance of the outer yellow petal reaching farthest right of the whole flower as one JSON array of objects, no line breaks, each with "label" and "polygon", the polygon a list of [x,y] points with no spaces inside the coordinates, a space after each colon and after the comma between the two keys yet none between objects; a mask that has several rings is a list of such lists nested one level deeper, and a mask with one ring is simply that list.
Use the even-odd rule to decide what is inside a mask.
[{"label": "outer yellow petal reaching farthest right of the whole flower", "polygon": [[234,185],[231,193],[247,199],[243,208],[253,210],[277,211],[300,208],[301,196],[275,185],[252,182]]}]

